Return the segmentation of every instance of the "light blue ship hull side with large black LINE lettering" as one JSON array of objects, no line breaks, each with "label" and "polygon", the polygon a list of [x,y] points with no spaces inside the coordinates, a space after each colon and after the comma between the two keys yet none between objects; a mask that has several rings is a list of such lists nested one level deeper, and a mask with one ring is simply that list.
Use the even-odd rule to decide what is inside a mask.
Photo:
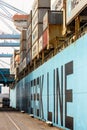
[{"label": "light blue ship hull side with large black LINE lettering", "polygon": [[17,84],[17,107],[71,130],[87,129],[87,34]]}]

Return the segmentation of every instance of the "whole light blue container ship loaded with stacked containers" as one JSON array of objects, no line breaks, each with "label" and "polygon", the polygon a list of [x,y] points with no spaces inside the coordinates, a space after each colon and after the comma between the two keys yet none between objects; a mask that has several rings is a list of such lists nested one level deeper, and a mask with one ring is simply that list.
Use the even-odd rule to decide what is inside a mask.
[{"label": "whole light blue container ship loaded with stacked containers", "polygon": [[28,16],[13,20],[26,26],[11,59],[10,105],[66,130],[87,130],[87,0],[34,0]]}]

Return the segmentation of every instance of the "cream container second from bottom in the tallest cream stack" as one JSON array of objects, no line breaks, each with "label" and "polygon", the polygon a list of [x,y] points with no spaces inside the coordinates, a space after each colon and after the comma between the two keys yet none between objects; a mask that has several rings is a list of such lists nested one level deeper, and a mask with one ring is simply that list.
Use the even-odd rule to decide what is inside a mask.
[{"label": "cream container second from bottom in the tallest cream stack", "polygon": [[32,32],[32,44],[40,38],[43,32],[43,24],[37,24],[34,31]]}]

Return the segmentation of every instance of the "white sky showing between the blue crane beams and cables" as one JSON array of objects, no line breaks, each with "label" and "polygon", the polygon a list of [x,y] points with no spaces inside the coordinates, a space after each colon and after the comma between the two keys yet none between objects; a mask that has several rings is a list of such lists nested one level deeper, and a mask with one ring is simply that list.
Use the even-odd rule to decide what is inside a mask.
[{"label": "white sky showing between the blue crane beams and cables", "polygon": [[[34,2],[34,0],[3,0],[3,1],[28,14],[29,14],[30,10],[32,9],[32,4]],[[9,10],[9,11],[11,12],[11,10]],[[13,12],[11,12],[11,13],[13,13]],[[15,28],[14,24],[11,23],[9,20],[7,20],[7,23],[12,25],[13,28]],[[0,33],[2,33],[2,32],[12,33],[11,30],[6,26],[6,24],[3,24],[3,22],[0,20]],[[11,48],[11,47],[10,48],[0,47],[0,54],[1,53],[13,53],[14,49],[15,48]],[[0,68],[9,68],[10,67],[9,64],[10,64],[10,58],[0,58]]]}]

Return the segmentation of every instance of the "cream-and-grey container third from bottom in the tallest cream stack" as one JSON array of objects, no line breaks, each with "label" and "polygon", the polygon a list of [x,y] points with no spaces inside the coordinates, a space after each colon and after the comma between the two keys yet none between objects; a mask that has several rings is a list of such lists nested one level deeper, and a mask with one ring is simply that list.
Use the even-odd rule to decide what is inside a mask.
[{"label": "cream-and-grey container third from bottom in the tallest cream stack", "polygon": [[49,10],[48,9],[44,9],[44,8],[39,8],[36,10],[33,18],[32,18],[32,30],[35,28],[35,26],[38,23],[43,24],[43,16],[45,15],[45,13]]}]

